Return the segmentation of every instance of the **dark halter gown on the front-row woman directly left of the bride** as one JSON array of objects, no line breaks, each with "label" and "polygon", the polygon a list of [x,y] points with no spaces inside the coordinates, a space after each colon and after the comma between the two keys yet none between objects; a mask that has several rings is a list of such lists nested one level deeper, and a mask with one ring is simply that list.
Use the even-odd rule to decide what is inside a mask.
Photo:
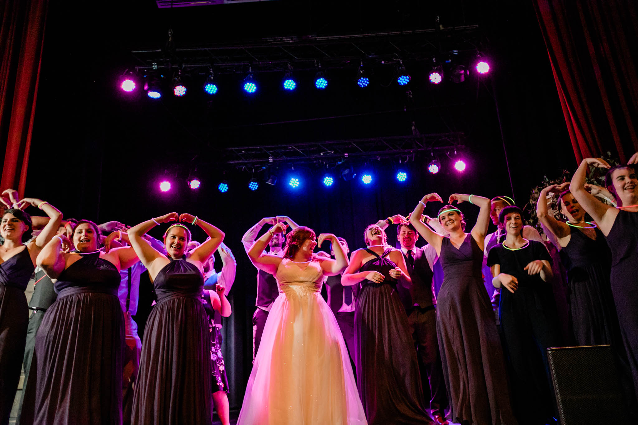
[{"label": "dark halter gown on the front-row woman directly left of the bride", "polygon": [[158,303],[144,329],[133,425],[211,424],[211,339],[204,277],[170,259],[153,282]]}]

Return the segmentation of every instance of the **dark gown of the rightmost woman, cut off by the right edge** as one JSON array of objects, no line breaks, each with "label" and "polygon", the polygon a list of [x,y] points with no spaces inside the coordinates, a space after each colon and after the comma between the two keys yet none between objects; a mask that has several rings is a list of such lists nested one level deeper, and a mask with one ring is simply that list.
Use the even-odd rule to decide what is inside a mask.
[{"label": "dark gown of the rightmost woman, cut off by the right edge", "polygon": [[638,399],[638,213],[620,210],[607,235],[611,292]]}]

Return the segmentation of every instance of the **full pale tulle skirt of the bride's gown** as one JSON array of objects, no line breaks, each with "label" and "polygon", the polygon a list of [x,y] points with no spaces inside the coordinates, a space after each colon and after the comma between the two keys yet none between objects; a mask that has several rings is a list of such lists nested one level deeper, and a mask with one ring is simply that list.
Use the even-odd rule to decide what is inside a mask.
[{"label": "full pale tulle skirt of the bride's gown", "polygon": [[272,305],[237,424],[367,424],[343,336],[319,292],[288,289]]}]

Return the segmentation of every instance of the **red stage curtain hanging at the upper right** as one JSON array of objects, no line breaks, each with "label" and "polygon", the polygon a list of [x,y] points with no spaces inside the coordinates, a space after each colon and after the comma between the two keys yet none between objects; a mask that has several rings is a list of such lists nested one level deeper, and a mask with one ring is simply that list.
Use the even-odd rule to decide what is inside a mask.
[{"label": "red stage curtain hanging at the upper right", "polygon": [[638,2],[533,0],[576,160],[638,151]]}]

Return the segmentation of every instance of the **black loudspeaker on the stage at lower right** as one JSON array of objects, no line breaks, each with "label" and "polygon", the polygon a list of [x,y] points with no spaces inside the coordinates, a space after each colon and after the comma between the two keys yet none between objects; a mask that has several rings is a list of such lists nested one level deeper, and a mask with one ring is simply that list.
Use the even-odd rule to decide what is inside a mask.
[{"label": "black loudspeaker on the stage at lower right", "polygon": [[561,425],[590,424],[601,414],[630,423],[611,345],[549,348],[547,361]]}]

